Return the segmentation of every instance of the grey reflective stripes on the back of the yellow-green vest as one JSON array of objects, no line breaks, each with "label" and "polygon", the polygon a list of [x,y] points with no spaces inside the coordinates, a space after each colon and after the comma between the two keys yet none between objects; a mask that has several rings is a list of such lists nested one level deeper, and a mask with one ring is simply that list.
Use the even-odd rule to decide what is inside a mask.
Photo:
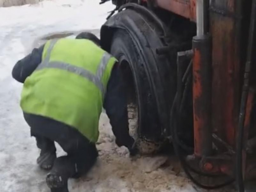
[{"label": "grey reflective stripes on the back of the yellow-green vest", "polygon": [[107,52],[105,52],[103,54],[100,64],[98,65],[96,75],[95,75],[95,74],[92,74],[92,72],[90,72],[84,68],[77,67],[77,66],[69,64],[69,63],[60,62],[60,61],[51,61],[50,62],[50,55],[51,55],[52,49],[57,41],[58,41],[58,39],[51,40],[50,46],[48,47],[48,50],[47,50],[47,53],[45,56],[45,59],[38,65],[36,70],[41,70],[44,68],[55,68],[55,69],[63,69],[65,71],[69,71],[71,73],[80,75],[80,76],[88,79],[92,83],[94,83],[95,86],[98,87],[98,89],[101,91],[102,96],[104,98],[105,88],[104,88],[103,83],[101,82],[101,78],[104,74],[104,71],[105,71],[107,65],[108,65],[108,61],[110,60],[110,58],[112,56],[110,54],[108,54]]}]

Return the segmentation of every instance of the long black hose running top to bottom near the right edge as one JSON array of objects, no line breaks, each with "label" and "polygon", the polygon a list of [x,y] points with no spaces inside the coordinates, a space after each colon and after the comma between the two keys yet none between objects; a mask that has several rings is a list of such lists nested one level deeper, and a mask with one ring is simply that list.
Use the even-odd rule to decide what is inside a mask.
[{"label": "long black hose running top to bottom near the right edge", "polygon": [[250,30],[249,30],[249,37],[248,37],[244,84],[243,84],[243,92],[241,97],[241,105],[240,105],[240,113],[239,113],[238,137],[236,142],[236,180],[238,183],[239,192],[245,191],[244,179],[243,179],[242,150],[243,150],[245,111],[246,111],[246,103],[247,103],[248,92],[249,92],[251,62],[253,57],[252,50],[255,42],[255,25],[256,25],[255,22],[256,22],[256,0],[253,0],[252,6],[251,6],[251,23],[250,23]]}]

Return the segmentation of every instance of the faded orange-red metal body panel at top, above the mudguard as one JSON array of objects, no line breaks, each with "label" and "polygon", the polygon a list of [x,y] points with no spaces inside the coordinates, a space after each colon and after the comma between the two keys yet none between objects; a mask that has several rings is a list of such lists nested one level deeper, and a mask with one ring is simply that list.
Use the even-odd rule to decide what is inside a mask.
[{"label": "faded orange-red metal body panel at top, above the mudguard", "polygon": [[196,0],[155,0],[158,7],[196,21]]}]

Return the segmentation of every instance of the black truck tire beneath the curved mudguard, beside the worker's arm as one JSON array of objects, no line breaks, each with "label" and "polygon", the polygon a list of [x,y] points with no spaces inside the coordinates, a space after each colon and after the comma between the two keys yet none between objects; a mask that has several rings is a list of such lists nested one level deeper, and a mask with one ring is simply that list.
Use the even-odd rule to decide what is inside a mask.
[{"label": "black truck tire beneath the curved mudguard, beside the worker's arm", "polygon": [[115,31],[111,43],[111,54],[119,61],[122,77],[126,85],[127,108],[130,134],[137,141],[141,153],[153,153],[160,143],[147,140],[140,134],[142,127],[160,130],[158,113],[143,66],[143,58],[136,49],[133,39],[122,29]]}]

